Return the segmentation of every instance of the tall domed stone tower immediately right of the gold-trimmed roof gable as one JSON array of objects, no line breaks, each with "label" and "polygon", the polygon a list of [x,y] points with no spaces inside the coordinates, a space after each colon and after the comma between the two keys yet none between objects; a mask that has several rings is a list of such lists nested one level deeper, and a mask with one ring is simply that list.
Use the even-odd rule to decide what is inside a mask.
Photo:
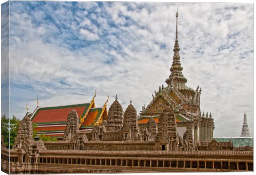
[{"label": "tall domed stone tower immediately right of the gold-trimmed roof gable", "polygon": [[111,104],[107,118],[107,130],[120,131],[123,126],[123,107],[117,100]]}]

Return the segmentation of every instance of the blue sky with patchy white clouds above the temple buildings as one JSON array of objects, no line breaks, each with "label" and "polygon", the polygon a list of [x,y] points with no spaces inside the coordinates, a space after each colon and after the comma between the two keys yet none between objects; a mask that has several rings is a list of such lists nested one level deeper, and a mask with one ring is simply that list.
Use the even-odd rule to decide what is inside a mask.
[{"label": "blue sky with patchy white clouds above the temple buildings", "polygon": [[[10,2],[10,115],[119,96],[137,109],[170,75],[175,13],[187,86],[202,88],[214,137],[253,134],[253,4]],[[3,111],[2,111],[3,113]]]}]

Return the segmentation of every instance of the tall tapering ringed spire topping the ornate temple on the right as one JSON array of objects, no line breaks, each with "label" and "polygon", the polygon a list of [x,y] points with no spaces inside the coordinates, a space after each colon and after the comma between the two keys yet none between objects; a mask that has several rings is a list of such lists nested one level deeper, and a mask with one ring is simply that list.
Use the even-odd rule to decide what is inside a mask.
[{"label": "tall tapering ringed spire topping the ornate temple on the right", "polygon": [[179,43],[178,43],[178,9],[176,12],[176,37],[175,37],[175,45],[174,45],[174,55],[173,55],[173,64],[171,65],[170,71],[171,71],[171,75],[169,76],[169,78],[166,79],[166,83],[168,85],[185,85],[185,83],[187,83],[187,79],[183,76],[182,74],[182,70],[183,67],[180,64],[180,47],[179,47]]}]

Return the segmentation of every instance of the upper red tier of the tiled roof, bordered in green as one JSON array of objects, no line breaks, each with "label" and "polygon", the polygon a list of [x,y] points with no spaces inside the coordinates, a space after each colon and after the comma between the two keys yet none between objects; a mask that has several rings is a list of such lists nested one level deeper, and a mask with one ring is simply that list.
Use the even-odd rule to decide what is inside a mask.
[{"label": "upper red tier of the tiled roof, bordered in green", "polygon": [[38,108],[35,113],[31,116],[30,120],[33,123],[66,123],[66,119],[73,109],[76,110],[78,117],[84,115],[89,108],[89,103],[75,104],[68,106],[56,106],[56,107],[45,107]]}]

